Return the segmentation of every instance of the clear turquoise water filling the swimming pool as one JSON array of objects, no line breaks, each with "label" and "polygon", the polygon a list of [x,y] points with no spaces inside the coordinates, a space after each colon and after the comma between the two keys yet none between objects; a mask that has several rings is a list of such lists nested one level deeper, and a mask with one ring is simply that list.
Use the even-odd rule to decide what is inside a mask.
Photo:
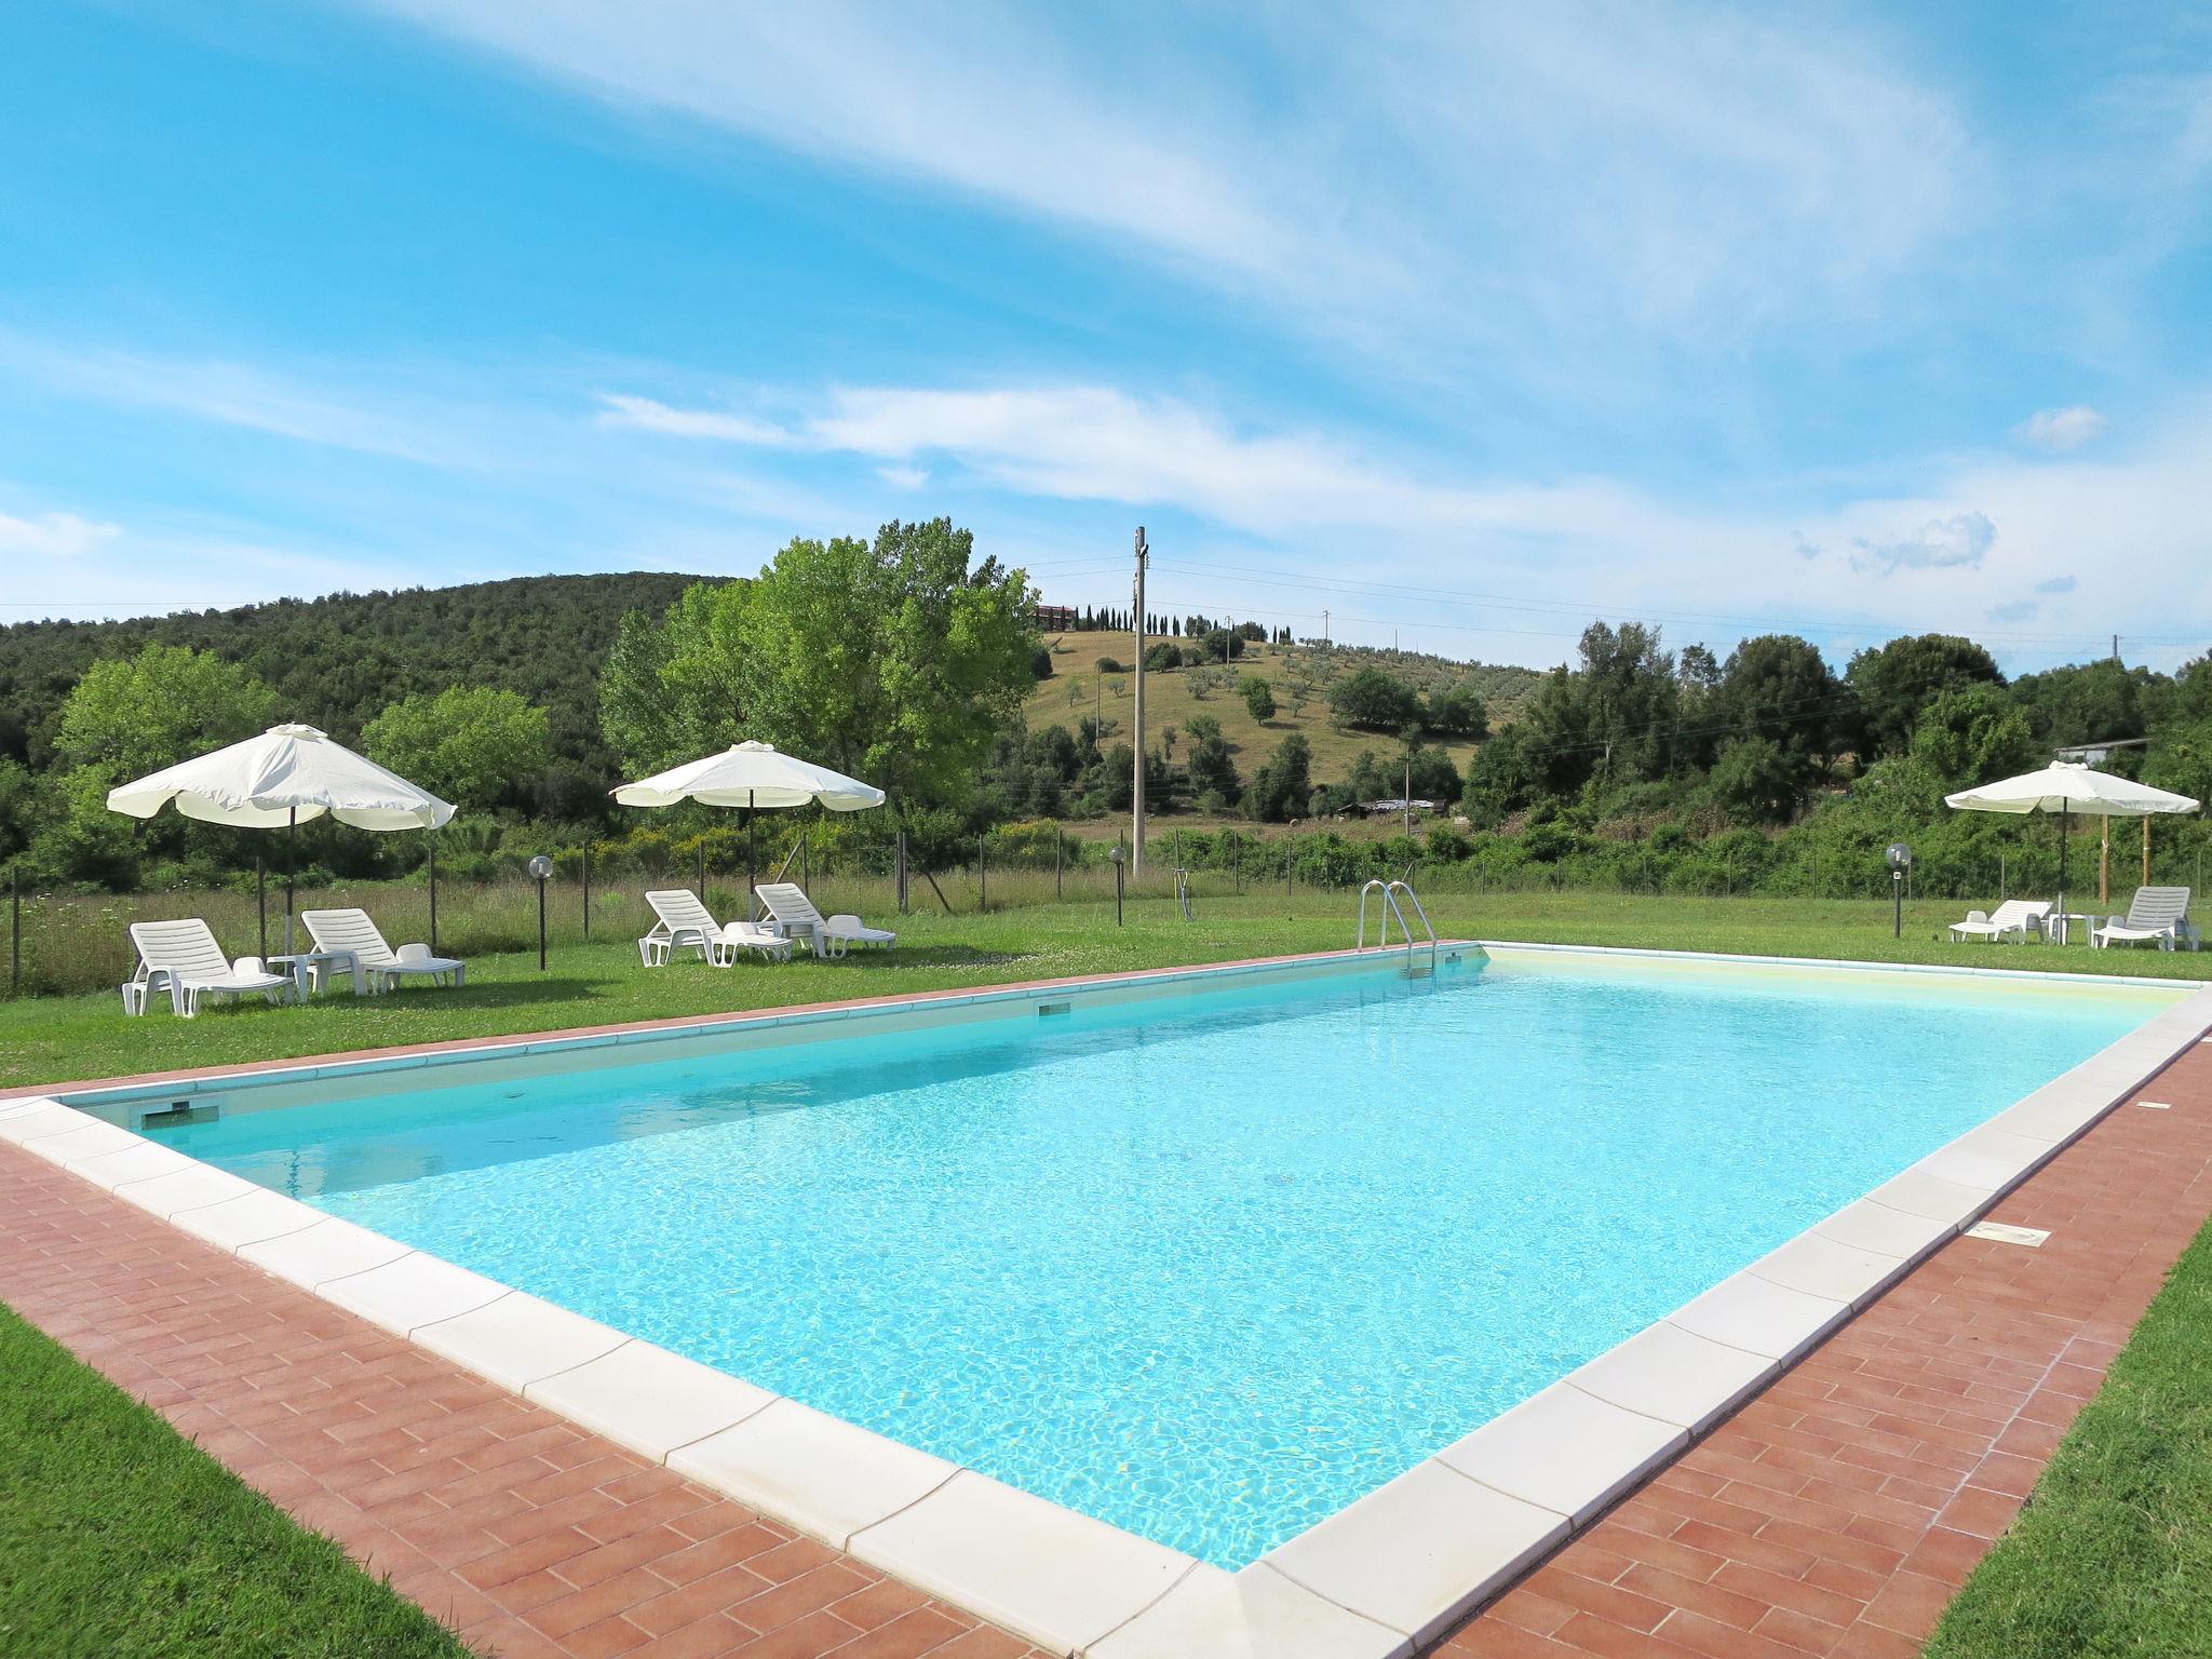
[{"label": "clear turquoise water filling the swimming pool", "polygon": [[164,1139],[1234,1568],[2170,1002],[1504,958]]}]

